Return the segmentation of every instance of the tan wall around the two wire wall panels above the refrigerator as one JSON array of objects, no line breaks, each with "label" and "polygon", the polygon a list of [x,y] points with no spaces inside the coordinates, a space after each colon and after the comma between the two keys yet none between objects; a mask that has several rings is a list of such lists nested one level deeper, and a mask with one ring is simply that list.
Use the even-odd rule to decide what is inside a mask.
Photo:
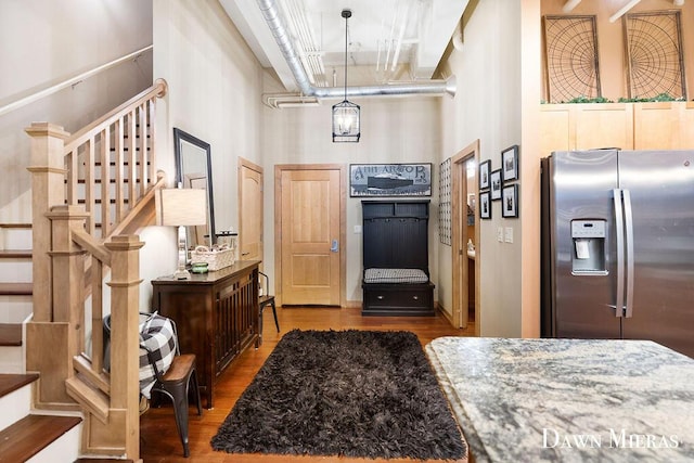
[{"label": "tan wall around the two wire wall panels above the refrigerator", "polygon": [[[562,7],[565,0],[541,0],[541,14],[565,14]],[[609,22],[609,16],[619,11],[625,0],[583,0],[574,9],[571,15],[595,15],[597,27],[597,52],[600,59],[600,79],[603,97],[617,101],[620,97],[628,97],[627,77],[625,70],[625,40],[622,20]],[[690,99],[694,95],[694,3],[685,1],[683,7],[676,8],[672,0],[642,0],[629,13],[647,11],[680,10],[682,20],[682,40]],[[543,49],[542,49],[543,50]],[[543,52],[544,53],[544,52]],[[543,56],[544,57],[544,56]],[[544,62],[542,63],[544,66]],[[543,81],[543,95],[544,85]],[[576,95],[579,97],[579,95]]]}]

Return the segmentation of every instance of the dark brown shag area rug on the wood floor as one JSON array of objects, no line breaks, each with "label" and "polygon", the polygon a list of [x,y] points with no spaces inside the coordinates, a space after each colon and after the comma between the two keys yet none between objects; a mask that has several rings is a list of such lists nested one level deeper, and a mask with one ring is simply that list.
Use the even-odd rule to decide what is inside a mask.
[{"label": "dark brown shag area rug on the wood floor", "polygon": [[211,445],[230,453],[466,454],[416,336],[355,330],[285,334]]}]

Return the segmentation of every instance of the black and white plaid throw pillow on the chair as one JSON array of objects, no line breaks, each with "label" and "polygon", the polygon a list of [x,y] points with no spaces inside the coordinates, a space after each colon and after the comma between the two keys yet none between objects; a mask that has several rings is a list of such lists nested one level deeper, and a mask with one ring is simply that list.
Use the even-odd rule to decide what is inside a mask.
[{"label": "black and white plaid throw pillow on the chair", "polygon": [[176,356],[176,333],[171,320],[152,313],[140,330],[140,393],[149,399],[156,376],[143,347],[153,353],[159,372],[166,373]]}]

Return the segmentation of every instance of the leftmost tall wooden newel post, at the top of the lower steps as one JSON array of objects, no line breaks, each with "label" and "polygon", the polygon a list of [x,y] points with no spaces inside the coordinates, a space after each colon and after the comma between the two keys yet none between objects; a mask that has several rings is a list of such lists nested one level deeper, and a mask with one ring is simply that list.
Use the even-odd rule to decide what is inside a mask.
[{"label": "leftmost tall wooden newel post, at the top of the lower steps", "polygon": [[46,214],[65,204],[64,141],[69,133],[61,126],[34,123],[24,129],[31,137],[31,223],[34,321],[50,322],[51,313],[51,222]]}]

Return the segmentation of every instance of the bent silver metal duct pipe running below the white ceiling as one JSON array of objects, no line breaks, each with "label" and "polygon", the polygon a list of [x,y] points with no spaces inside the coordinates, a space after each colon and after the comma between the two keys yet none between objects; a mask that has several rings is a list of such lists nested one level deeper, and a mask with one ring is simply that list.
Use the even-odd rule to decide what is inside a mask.
[{"label": "bent silver metal duct pipe running below the white ceiling", "polygon": [[[275,0],[257,0],[262,17],[265,18],[272,37],[277,41],[282,55],[292,69],[294,79],[304,95],[317,97],[320,99],[343,99],[345,98],[344,87],[320,87],[311,85],[306,69],[301,65],[298,51],[287,33],[284,18],[280,14]],[[446,80],[428,80],[411,83],[387,83],[382,86],[347,87],[347,97],[382,97],[382,95],[406,95],[406,94],[427,94],[427,95],[455,95],[455,76]]]}]

